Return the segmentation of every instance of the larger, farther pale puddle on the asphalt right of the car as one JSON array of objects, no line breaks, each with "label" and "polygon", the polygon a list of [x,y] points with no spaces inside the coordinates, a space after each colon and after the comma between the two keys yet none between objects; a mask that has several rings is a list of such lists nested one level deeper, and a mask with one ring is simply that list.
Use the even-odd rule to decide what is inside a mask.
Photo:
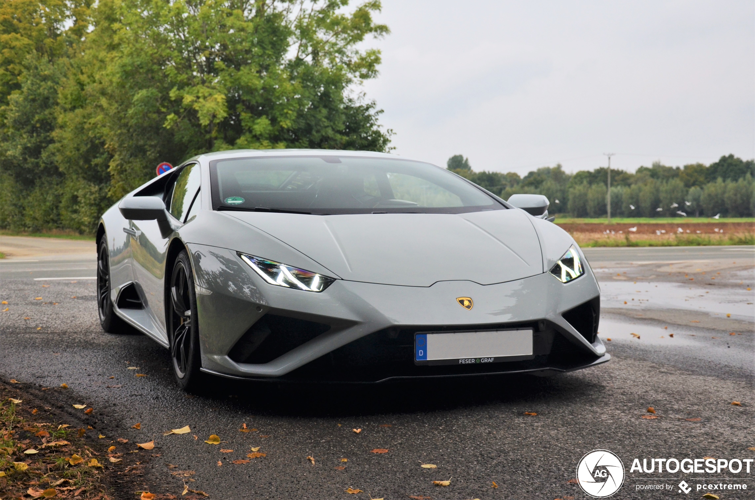
[{"label": "larger, farther pale puddle on the asphalt right of the car", "polygon": [[[708,289],[710,288],[710,289]],[[667,281],[601,281],[601,307],[633,309],[688,309],[711,316],[731,314],[740,321],[755,322],[753,291],[736,288],[689,287]],[[624,301],[627,303],[624,304]]]}]

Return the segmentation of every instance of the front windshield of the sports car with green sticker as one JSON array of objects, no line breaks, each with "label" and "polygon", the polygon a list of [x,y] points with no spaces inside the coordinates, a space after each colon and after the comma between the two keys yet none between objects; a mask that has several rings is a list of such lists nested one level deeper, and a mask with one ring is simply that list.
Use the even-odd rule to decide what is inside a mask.
[{"label": "front windshield of the sports car with green sticker", "polygon": [[420,161],[351,156],[232,158],[210,163],[215,210],[464,213],[504,205]]}]

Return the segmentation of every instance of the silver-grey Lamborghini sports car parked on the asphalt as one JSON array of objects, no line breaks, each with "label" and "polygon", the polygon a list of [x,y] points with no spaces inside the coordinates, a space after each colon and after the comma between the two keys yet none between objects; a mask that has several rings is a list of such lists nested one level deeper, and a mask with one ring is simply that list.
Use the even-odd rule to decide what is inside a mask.
[{"label": "silver-grey Lamborghini sports car parked on the asphalt", "polygon": [[[237,150],[135,189],[97,229],[103,330],[170,350],[181,388],[550,375],[610,359],[600,290],[547,199],[399,155]],[[214,377],[213,377],[214,376]]]}]

